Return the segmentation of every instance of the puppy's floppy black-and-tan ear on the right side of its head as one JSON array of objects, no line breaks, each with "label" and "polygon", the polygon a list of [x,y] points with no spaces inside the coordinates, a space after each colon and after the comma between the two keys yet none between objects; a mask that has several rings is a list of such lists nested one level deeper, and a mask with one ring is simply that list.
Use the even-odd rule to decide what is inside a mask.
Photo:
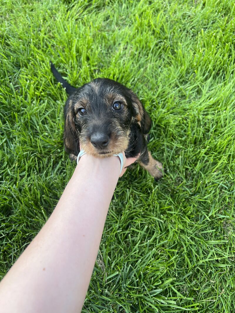
[{"label": "puppy's floppy black-and-tan ear on the right side of its head", "polygon": [[131,101],[133,106],[134,118],[140,123],[143,134],[148,134],[151,128],[151,119],[144,109],[144,105],[140,102],[137,95],[131,91]]}]

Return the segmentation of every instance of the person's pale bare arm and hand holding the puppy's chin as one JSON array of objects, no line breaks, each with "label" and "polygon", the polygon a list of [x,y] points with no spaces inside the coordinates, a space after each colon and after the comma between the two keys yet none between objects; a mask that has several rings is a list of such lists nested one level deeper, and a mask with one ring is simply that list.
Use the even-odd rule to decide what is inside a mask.
[{"label": "person's pale bare arm and hand holding the puppy's chin", "polygon": [[81,312],[113,192],[117,156],[81,157],[55,210],[0,283],[4,313]]}]

